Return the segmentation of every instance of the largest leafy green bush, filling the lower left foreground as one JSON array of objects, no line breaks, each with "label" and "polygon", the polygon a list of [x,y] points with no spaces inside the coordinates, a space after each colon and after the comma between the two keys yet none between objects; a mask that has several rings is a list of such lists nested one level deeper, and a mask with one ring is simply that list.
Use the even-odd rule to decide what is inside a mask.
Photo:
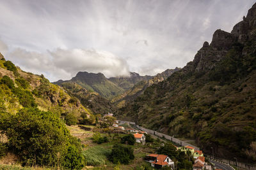
[{"label": "largest leafy green bush, filling the lower left foreground", "polygon": [[[70,150],[70,146],[78,149],[81,144],[70,136],[65,124],[51,112],[25,108],[16,115],[2,113],[0,131],[8,137],[8,147],[20,157],[22,165],[74,166],[74,157],[77,160],[81,158],[77,150]],[[80,164],[77,166],[81,167]]]}]

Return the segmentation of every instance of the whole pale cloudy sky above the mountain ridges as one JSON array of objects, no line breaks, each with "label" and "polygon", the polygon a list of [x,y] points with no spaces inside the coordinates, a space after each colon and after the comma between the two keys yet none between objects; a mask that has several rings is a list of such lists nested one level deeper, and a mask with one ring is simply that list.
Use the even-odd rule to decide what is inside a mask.
[{"label": "whole pale cloudy sky above the mountain ridges", "polygon": [[0,0],[0,52],[50,81],[184,67],[255,0]]}]

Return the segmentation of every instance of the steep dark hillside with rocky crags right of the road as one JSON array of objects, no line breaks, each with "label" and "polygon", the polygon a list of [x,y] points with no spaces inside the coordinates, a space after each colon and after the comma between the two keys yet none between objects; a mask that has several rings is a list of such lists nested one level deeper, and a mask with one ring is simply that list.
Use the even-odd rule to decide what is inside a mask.
[{"label": "steep dark hillside with rocky crags right of the road", "polygon": [[255,161],[256,4],[231,33],[217,30],[195,59],[148,87],[118,117],[176,137],[205,153]]}]

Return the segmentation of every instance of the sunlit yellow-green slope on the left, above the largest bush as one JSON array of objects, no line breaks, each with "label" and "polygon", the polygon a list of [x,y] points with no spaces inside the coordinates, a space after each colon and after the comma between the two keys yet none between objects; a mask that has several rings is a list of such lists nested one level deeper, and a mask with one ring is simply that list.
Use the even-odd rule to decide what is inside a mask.
[{"label": "sunlit yellow-green slope on the left, above the largest bush", "polygon": [[81,113],[85,113],[94,122],[93,112],[85,108],[76,97],[50,83],[44,75],[26,73],[1,57],[0,111],[15,114],[22,108],[31,107],[51,111],[59,117],[70,113],[79,119]]}]

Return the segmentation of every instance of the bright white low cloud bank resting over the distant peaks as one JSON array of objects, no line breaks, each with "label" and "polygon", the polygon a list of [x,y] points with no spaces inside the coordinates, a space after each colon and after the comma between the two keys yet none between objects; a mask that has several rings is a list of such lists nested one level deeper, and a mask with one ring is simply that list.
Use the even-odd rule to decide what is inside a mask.
[{"label": "bright white low cloud bank resting over the distant peaks", "polygon": [[51,81],[70,79],[79,71],[103,73],[107,77],[129,76],[125,60],[104,51],[58,48],[38,53],[15,48],[8,59],[15,60],[24,71],[45,74]]}]

